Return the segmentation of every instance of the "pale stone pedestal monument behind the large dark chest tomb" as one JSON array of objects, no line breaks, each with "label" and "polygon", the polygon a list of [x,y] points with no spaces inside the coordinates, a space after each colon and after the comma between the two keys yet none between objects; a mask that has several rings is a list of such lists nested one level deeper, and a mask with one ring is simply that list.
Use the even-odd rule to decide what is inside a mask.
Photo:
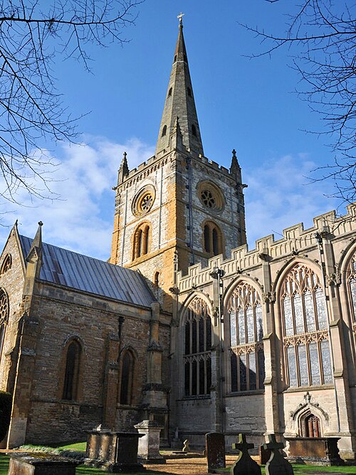
[{"label": "pale stone pedestal monument behind the large dark chest tomb", "polygon": [[143,435],[138,441],[138,457],[150,463],[165,464],[165,459],[159,454],[159,432],[163,427],[154,420],[142,420],[134,427]]}]

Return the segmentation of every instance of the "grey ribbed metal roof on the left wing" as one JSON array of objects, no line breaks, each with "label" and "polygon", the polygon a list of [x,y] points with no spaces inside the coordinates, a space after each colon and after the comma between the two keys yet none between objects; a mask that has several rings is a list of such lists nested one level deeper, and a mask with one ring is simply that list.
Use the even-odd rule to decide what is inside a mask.
[{"label": "grey ribbed metal roof on the left wing", "polygon": [[[26,259],[32,239],[22,235],[19,237]],[[142,306],[150,306],[155,301],[139,272],[46,242],[42,243],[42,250],[40,279],[46,282]]]}]

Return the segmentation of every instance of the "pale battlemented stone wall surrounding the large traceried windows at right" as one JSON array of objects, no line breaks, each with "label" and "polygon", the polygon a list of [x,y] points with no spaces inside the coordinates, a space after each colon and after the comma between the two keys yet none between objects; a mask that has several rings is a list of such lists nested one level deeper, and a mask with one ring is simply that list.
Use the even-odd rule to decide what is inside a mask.
[{"label": "pale battlemented stone wall surrounding the large traceried windows at right", "polygon": [[[207,267],[202,267],[199,263],[189,267],[186,276],[178,272],[179,303],[174,318],[179,321],[179,331],[172,364],[177,370],[176,378],[180,381],[181,389],[176,394],[172,425],[179,427],[182,437],[189,437],[189,441],[203,444],[203,439],[199,436],[214,427],[226,434],[227,447],[239,432],[250,434],[250,438],[259,444],[262,436],[268,433],[282,436],[285,434],[286,437],[302,436],[304,431],[308,430],[308,424],[311,424],[310,416],[313,416],[318,418],[319,437],[321,432],[323,437],[341,437],[340,454],[342,457],[354,457],[356,327],[355,317],[352,316],[349,283],[350,266],[352,259],[355,259],[356,250],[355,215],[356,206],[349,206],[347,215],[342,218],[336,218],[335,212],[330,212],[315,218],[313,228],[304,230],[303,225],[295,225],[284,230],[281,240],[274,241],[272,235],[263,237],[256,241],[254,250],[248,250],[247,246],[238,247],[233,250],[229,260],[224,260],[222,256],[213,257]],[[302,276],[306,275],[307,269],[311,269],[310,272],[318,276],[312,277],[313,282],[318,278],[318,289],[323,290],[323,305],[326,305],[329,323],[325,325],[325,331],[320,331],[317,335],[314,335],[308,326],[308,331],[298,332],[297,329],[294,332],[303,335],[287,337],[293,332],[288,333],[287,320],[283,319],[283,304],[286,305],[283,303],[283,280],[287,278],[290,269],[295,268],[304,269],[300,274]],[[217,277],[219,285],[216,285]],[[260,389],[253,388],[254,390],[249,391],[231,388],[231,354],[236,343],[232,343],[233,323],[229,309],[231,295],[241,285],[256,289],[261,301],[263,319],[261,344],[265,365],[264,384]],[[308,292],[306,291],[305,295]],[[213,353],[218,353],[219,340],[213,338],[212,342],[212,384],[211,395],[207,398],[184,397],[182,389],[185,318],[189,302],[197,298],[204,300],[211,312],[215,335],[221,332],[220,363],[213,357]],[[307,297],[304,296],[303,299],[307,301]],[[294,305],[296,308],[296,301]],[[304,305],[306,308],[307,304]],[[325,307],[320,304],[320,308]],[[309,319],[310,311],[308,314],[307,309],[305,313]],[[321,327],[320,324],[320,329]],[[311,368],[310,372],[313,374],[316,363],[312,361],[312,345],[316,346],[316,341],[328,341],[330,344],[331,363],[328,365],[325,360],[323,384],[320,384],[321,381],[315,384],[314,380],[313,383],[308,383],[308,380],[305,383],[302,378],[307,376],[301,367],[301,357],[297,366],[299,383],[293,383],[293,371],[288,376],[286,360],[291,358],[288,348],[294,348],[295,345],[299,355],[302,351],[298,344],[305,341],[305,344],[311,342],[308,368]],[[252,347],[253,344],[247,349],[247,353],[252,351]],[[246,351],[246,346],[238,346],[237,349]],[[330,366],[333,374],[328,379]],[[292,368],[291,363],[289,368]],[[313,377],[313,374],[310,377]],[[315,381],[318,382],[316,378]],[[243,384],[244,381],[240,380],[240,385]],[[218,411],[214,410],[214,406],[220,408],[221,417],[218,423],[215,420]],[[310,437],[315,437],[315,434]]]}]

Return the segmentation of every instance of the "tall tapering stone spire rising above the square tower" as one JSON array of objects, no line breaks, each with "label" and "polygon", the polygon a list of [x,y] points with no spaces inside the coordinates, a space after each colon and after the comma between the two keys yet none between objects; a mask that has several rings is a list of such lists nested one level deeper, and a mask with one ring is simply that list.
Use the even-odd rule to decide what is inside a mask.
[{"label": "tall tapering stone spire rising above the square tower", "polygon": [[156,146],[156,156],[169,147],[169,137],[179,117],[184,146],[204,155],[201,143],[197,110],[195,109],[192,81],[189,74],[187,50],[184,44],[182,15],[179,15],[179,33],[174,51],[172,72],[169,78],[166,102]]}]

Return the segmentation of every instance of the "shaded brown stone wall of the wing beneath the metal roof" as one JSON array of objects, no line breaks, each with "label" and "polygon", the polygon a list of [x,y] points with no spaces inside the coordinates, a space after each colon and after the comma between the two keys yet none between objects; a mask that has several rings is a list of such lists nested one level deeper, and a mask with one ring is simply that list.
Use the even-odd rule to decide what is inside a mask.
[{"label": "shaded brown stone wall of the wing beneath the metal roof", "polygon": [[[167,432],[169,373],[166,365],[162,374],[162,358],[168,358],[169,319],[155,301],[147,307],[46,282],[40,270],[43,259],[46,272],[50,269],[48,252],[53,258],[56,251],[47,245],[43,250],[40,226],[23,278],[25,260],[15,227],[0,260],[1,266],[11,255],[11,268],[0,276],[10,309],[1,352],[1,388],[14,395],[8,446],[78,439],[100,423],[132,429],[156,415]],[[64,278],[65,265],[57,262],[58,275],[63,272]],[[74,261],[72,266],[75,269]],[[80,354],[68,395],[63,388],[71,374],[68,354],[73,341]],[[127,352],[132,362],[130,374],[124,376]]]}]

